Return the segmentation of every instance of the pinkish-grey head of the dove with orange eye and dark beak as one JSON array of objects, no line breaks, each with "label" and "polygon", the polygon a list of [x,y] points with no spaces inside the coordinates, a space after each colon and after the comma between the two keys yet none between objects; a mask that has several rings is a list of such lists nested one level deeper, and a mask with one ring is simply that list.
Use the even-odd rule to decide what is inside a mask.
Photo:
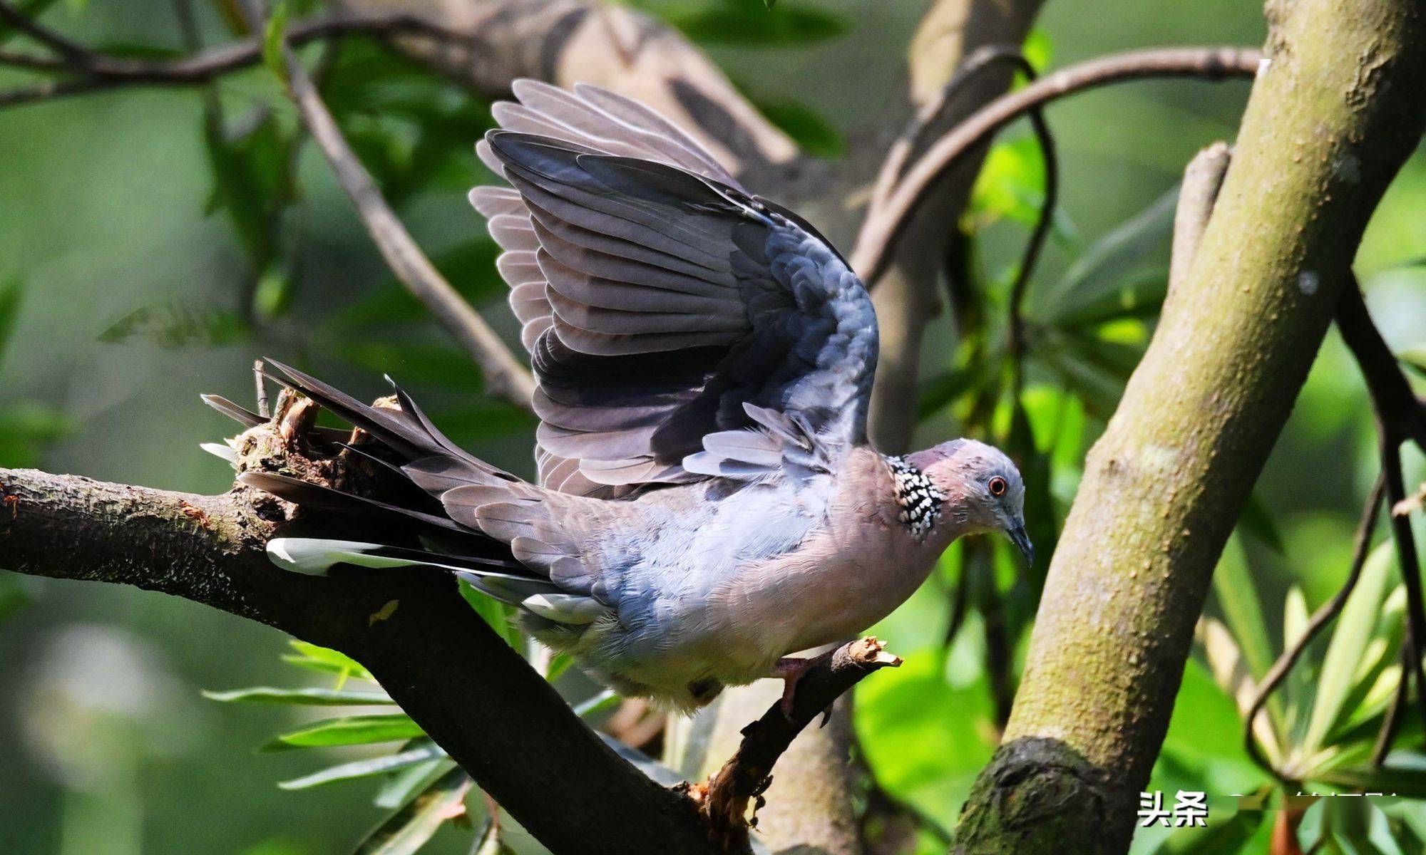
[{"label": "pinkish-grey head of the dove with orange eye and dark beak", "polygon": [[[1025,534],[1025,482],[1000,449],[974,439],[955,439],[903,457],[941,496],[934,526],[957,534],[1000,532],[1034,563]],[[898,476],[898,482],[906,480]],[[914,500],[914,499],[913,499]]]}]

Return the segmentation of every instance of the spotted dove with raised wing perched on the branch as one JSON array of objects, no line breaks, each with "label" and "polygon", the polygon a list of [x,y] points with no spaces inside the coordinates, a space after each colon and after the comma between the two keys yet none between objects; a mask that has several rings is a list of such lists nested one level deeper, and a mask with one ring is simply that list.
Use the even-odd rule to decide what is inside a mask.
[{"label": "spotted dove with raised wing perched on the branch", "polygon": [[476,144],[506,185],[471,201],[523,325],[538,479],[458,447],[395,383],[366,405],[268,361],[359,428],[348,447],[404,487],[376,500],[279,472],[240,480],[421,533],[279,537],[278,566],[448,570],[617,693],[689,711],[766,677],[784,681],[790,710],[817,661],[791,654],[890,614],[958,537],[1001,533],[1032,563],[1024,482],[998,449],[873,447],[876,312],[811,224],[639,101],[586,84],[512,90]]}]

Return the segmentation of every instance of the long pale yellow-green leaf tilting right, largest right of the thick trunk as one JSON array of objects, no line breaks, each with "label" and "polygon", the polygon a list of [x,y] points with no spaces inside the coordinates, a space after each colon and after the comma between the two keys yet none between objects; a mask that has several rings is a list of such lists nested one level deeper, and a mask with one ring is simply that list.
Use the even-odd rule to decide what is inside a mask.
[{"label": "long pale yellow-green leaf tilting right, largest right of the thick trunk", "polygon": [[1343,707],[1356,685],[1358,668],[1372,641],[1390,569],[1392,546],[1383,543],[1368,556],[1356,590],[1338,616],[1322,661],[1322,675],[1318,678],[1316,701],[1303,740],[1303,755],[1312,755],[1322,748],[1332,725],[1346,711]]}]

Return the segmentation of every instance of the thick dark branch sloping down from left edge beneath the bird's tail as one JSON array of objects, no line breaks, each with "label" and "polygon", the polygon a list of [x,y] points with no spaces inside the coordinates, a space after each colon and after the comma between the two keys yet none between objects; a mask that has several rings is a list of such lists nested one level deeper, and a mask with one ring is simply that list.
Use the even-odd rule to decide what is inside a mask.
[{"label": "thick dark branch sloping down from left edge beneath the bird's tail", "polygon": [[[272,566],[271,536],[328,532],[289,513],[245,487],[195,496],[0,469],[0,561],[163,591],[342,650],[553,852],[714,851],[693,804],[617,758],[448,576],[352,569],[328,579]],[[582,785],[555,795],[570,770]]]}]

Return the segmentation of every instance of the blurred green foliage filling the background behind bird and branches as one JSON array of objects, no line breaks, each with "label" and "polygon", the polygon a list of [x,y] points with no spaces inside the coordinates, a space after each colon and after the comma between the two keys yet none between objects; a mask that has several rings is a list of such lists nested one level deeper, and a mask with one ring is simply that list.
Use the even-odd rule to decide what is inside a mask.
[{"label": "blurred green foliage filling the background behind bird and branches", "polygon": [[[884,115],[920,13],[856,0],[783,0],[771,13],[757,0],[636,4],[706,47],[771,121],[824,158]],[[240,30],[221,6],[197,4],[210,44]],[[178,53],[164,3],[21,7],[48,9],[47,23],[87,44]],[[1142,44],[1261,38],[1255,4],[1119,0],[1087,16],[1051,3],[1025,54],[1045,70]],[[0,40],[19,43],[4,27]],[[302,57],[418,241],[511,335],[496,248],[463,200],[489,180],[472,154],[491,127],[489,104],[366,40]],[[21,78],[0,71],[0,84]],[[1139,83],[1048,111],[1061,204],[1030,282],[1020,372],[1007,365],[1008,289],[1045,198],[1028,133],[997,141],[967,215],[951,224],[964,235],[955,262],[965,285],[928,336],[921,436],[1010,449],[1031,486],[1027,516],[1042,557],[1027,571],[1005,544],[957,544],[876,627],[907,661],[858,687],[860,754],[887,798],[930,819],[917,852],[944,851],[934,826],[954,825],[994,751],[1035,606],[1054,596],[1044,590],[1047,559],[1084,455],[1154,331],[1178,174],[1196,148],[1231,138],[1245,93],[1232,83]],[[453,439],[532,473],[530,419],[481,395],[463,352],[384,268],[271,70],[201,90],[7,111],[0,152],[0,465],[225,489],[230,473],[197,443],[230,426],[195,396],[238,398],[251,388],[251,361],[270,353],[356,390],[391,372],[432,402]],[[1358,271],[1387,341],[1426,378],[1423,211],[1417,154],[1376,214]],[[1209,826],[1147,828],[1137,855],[1265,852],[1295,787],[1403,797],[1319,798],[1293,814],[1303,848],[1423,851],[1420,722],[1407,711],[1385,771],[1369,758],[1400,680],[1402,596],[1380,547],[1262,717],[1259,744],[1288,781],[1243,747],[1245,681],[1261,678],[1340,586],[1373,459],[1369,405],[1333,335],[1219,567],[1149,784],[1169,804],[1178,791],[1206,792]],[[1409,463],[1409,483],[1419,483],[1419,457]],[[506,607],[471,603],[525,650]],[[0,617],[0,851],[88,855],[93,841],[108,855],[538,851],[493,822],[463,772],[339,654],[285,648],[262,627],[151,594],[9,574]],[[110,654],[127,664],[107,665]],[[612,697],[568,658],[532,660],[582,712],[607,712]],[[130,678],[106,680],[116,670]],[[257,688],[197,700],[200,685],[220,680]],[[241,748],[264,744],[282,750]],[[1268,809],[1241,809],[1232,794]],[[475,821],[452,828],[462,815]]]}]

